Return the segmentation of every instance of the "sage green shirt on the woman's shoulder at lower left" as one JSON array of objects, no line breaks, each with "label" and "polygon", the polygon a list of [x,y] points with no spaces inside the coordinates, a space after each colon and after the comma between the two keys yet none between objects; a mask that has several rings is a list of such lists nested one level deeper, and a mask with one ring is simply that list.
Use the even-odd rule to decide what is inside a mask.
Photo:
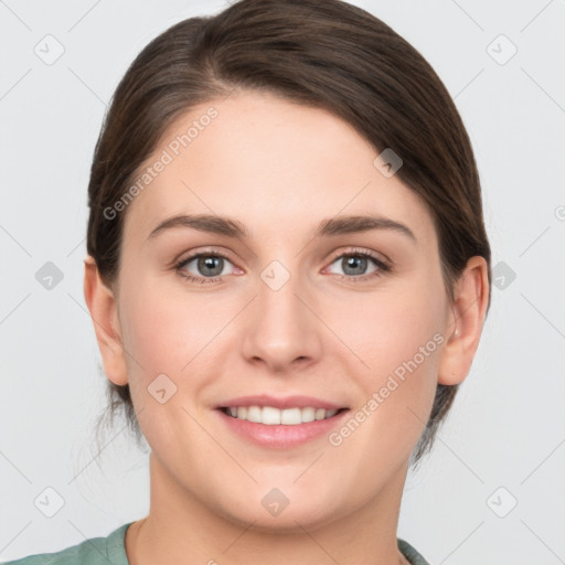
[{"label": "sage green shirt on the woman's shoulder at lower left", "polygon": [[124,540],[130,523],[106,537],[93,537],[60,552],[29,555],[1,565],[129,565]]}]

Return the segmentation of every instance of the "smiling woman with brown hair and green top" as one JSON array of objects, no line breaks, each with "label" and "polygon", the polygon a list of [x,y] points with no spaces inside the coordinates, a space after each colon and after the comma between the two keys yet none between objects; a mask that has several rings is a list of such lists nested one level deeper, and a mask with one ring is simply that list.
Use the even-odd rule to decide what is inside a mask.
[{"label": "smiling woman with brown hair and green top", "polygon": [[151,503],[50,563],[426,564],[403,487],[469,373],[490,247],[422,55],[337,0],[185,20],[119,84],[88,195],[85,299]]}]

